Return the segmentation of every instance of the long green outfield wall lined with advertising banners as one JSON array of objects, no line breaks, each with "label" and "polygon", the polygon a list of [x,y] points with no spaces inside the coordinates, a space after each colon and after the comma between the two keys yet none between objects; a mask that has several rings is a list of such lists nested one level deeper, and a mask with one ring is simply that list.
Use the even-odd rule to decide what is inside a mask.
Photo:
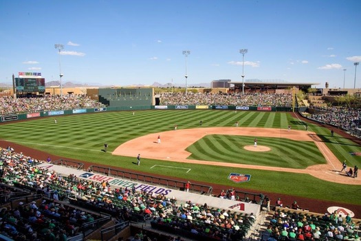
[{"label": "long green outfield wall lined with advertising banners", "polygon": [[[9,114],[0,115],[1,122],[11,122],[16,120],[32,119],[36,117],[56,117],[63,115],[77,115],[85,113],[98,113],[109,111],[142,111],[142,110],[223,110],[223,111],[283,111],[292,112],[291,107],[272,107],[272,106],[221,106],[221,105],[170,105],[170,106],[153,106],[153,105],[135,105],[135,106],[109,106],[102,108],[80,108],[74,110],[57,110],[57,111],[39,111],[35,113]],[[295,108],[297,111],[297,108]]]}]

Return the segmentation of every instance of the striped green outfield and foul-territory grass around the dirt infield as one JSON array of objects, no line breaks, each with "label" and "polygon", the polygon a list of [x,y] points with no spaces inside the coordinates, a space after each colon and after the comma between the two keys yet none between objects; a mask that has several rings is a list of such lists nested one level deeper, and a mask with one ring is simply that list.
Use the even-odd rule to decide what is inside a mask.
[{"label": "striped green outfield and foul-territory grass around the dirt infield", "polygon": [[[89,161],[97,165],[107,164],[130,170],[140,170],[142,172],[166,176],[178,176],[194,181],[198,180],[229,185],[230,187],[237,187],[237,189],[292,194],[307,198],[361,205],[361,198],[355,198],[355,194],[358,194],[360,186],[329,183],[307,174],[219,168],[208,165],[169,163],[167,161],[151,159],[142,159],[142,165],[138,166],[134,164],[136,163],[136,154],[138,153],[135,153],[134,158],[113,156],[111,154],[111,151],[117,146],[135,137],[151,133],[160,133],[165,130],[173,130],[175,124],[177,124],[179,129],[199,128],[200,120],[203,121],[201,128],[210,126],[234,126],[235,122],[239,122],[239,126],[242,127],[287,128],[290,124],[294,130],[305,130],[304,123],[298,119],[294,119],[289,113],[153,110],[137,111],[135,115],[132,115],[132,112],[120,111],[57,116],[56,119],[58,119],[57,124],[54,124],[53,118],[30,119],[27,122],[10,122],[3,124],[1,125],[0,138],[50,152],[61,157]],[[354,144],[353,141],[338,135],[331,137],[329,130],[320,126],[309,124],[308,127],[310,131],[315,131],[320,135],[322,140],[326,141],[327,146],[336,154],[338,159],[342,161],[347,159],[349,166],[360,163],[361,157],[351,156],[349,154],[349,152],[361,152],[360,146]],[[232,145],[232,139],[252,143],[252,141],[249,142],[247,138],[249,137],[208,136],[206,139],[200,140],[204,141],[205,144],[199,145],[202,146],[202,149],[197,158],[204,158],[201,155],[207,154],[209,145],[223,146],[223,149],[226,150],[227,148],[224,147],[226,144],[221,141],[222,139],[225,142],[228,141],[228,145]],[[263,137],[260,138],[263,139]],[[274,148],[283,145],[278,143],[278,139],[270,138],[266,140],[265,138],[265,141],[274,146]],[[109,144],[108,152],[106,153],[101,151],[105,142]],[[298,159],[298,161],[280,159],[279,161],[282,163],[280,165],[289,165],[289,167],[292,168],[305,168],[307,165],[324,163],[324,159],[321,160],[322,158],[318,158],[320,157],[318,150],[314,150],[312,145],[303,145],[305,145],[303,141],[287,143],[287,146],[292,149],[289,150],[290,155],[295,158],[300,156],[300,154],[305,154],[300,153],[301,149],[308,148],[310,155],[309,160],[305,159],[306,161],[303,163],[303,161],[301,161],[302,159]],[[193,147],[190,146],[189,148]],[[252,152],[252,155],[256,154],[257,153]],[[274,154],[274,157],[267,156],[267,158],[263,160],[264,163],[262,163],[262,165],[274,165],[277,156],[280,157],[280,153]],[[315,157],[317,157],[317,160],[314,159]],[[228,160],[226,160],[226,157],[224,158],[224,161],[235,161],[232,160],[232,157],[227,157]],[[271,159],[271,161],[267,159]],[[164,169],[164,167],[154,167],[154,165],[172,166],[173,168]],[[189,169],[190,171],[187,172]],[[251,181],[248,183],[233,183],[227,179],[230,172],[251,174]]]}]

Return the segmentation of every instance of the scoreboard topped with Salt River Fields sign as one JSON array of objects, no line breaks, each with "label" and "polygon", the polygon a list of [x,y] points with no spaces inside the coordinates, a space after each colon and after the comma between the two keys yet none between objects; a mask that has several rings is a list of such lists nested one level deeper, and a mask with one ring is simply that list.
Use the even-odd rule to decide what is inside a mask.
[{"label": "scoreboard topped with Salt River Fields sign", "polygon": [[17,93],[45,93],[45,78],[41,78],[41,73],[19,72],[15,87]]}]

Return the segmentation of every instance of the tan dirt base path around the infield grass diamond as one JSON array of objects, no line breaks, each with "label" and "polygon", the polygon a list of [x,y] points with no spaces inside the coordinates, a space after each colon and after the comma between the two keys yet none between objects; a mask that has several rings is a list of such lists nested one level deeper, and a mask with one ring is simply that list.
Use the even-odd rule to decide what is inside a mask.
[{"label": "tan dirt base path around the infield grass diamond", "polygon": [[[287,138],[294,141],[314,141],[320,152],[327,160],[327,164],[312,165],[306,169],[278,168],[262,165],[245,165],[237,163],[224,163],[216,161],[200,161],[187,159],[190,152],[186,151],[188,146],[194,144],[206,135],[244,135],[252,137],[274,137]],[[157,144],[160,135],[161,144]],[[163,133],[144,135],[127,141],[118,146],[112,154],[136,157],[141,154],[142,158],[158,159],[164,161],[176,161],[183,163],[196,163],[204,165],[219,165],[224,167],[248,168],[257,170],[294,172],[310,174],[318,179],[331,181],[333,183],[361,185],[361,179],[353,179],[346,174],[340,174],[341,163],[337,157],[327,148],[316,133],[305,130],[285,130],[276,128],[242,128],[242,127],[210,127],[194,128],[185,130],[170,130]]]}]

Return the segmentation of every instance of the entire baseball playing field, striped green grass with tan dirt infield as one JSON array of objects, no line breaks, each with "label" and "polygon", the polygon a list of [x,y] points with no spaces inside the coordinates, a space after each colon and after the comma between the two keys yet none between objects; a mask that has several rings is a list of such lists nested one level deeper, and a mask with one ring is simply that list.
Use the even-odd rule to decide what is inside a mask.
[{"label": "entire baseball playing field, striped green grass with tan dirt infield", "polygon": [[[344,160],[349,167],[360,165],[361,147],[337,133],[331,137],[329,128],[317,124],[307,123],[306,130],[305,122],[292,113],[152,110],[56,119],[57,123],[48,117],[2,124],[0,139],[63,159],[170,179],[361,205],[360,176],[340,173]],[[158,135],[161,144],[156,143]],[[105,143],[107,152],[102,150]],[[135,164],[138,154],[140,166]],[[234,183],[228,179],[230,173],[251,178]]]}]

